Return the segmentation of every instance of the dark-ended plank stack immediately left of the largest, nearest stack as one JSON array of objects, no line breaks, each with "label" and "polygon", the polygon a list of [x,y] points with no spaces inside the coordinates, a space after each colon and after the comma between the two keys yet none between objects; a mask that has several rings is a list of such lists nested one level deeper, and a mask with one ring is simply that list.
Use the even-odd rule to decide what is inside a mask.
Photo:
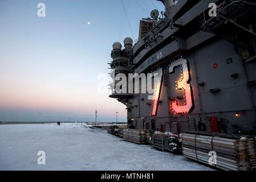
[{"label": "dark-ended plank stack immediately left of the largest, nearest stack", "polygon": [[182,151],[180,136],[172,133],[156,132],[148,142],[153,148],[159,148],[162,151],[170,151],[174,154],[181,154]]}]

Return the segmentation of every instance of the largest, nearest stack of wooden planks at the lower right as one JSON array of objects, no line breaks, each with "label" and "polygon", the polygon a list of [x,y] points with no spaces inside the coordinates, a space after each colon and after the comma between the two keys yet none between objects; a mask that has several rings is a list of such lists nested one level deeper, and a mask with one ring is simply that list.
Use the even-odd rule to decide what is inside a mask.
[{"label": "largest, nearest stack of wooden planks at the lower right", "polygon": [[[209,163],[210,151],[216,152],[215,164]],[[255,138],[250,135],[189,131],[182,135],[182,152],[187,158],[224,170],[256,169]]]}]

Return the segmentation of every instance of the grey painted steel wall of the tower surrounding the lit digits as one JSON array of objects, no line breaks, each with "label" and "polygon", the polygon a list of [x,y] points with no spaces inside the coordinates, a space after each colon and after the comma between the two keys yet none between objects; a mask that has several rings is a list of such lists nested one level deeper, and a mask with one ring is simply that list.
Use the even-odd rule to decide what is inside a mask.
[{"label": "grey painted steel wall of the tower surrounding the lit digits", "polygon": [[[200,1],[186,12],[181,12],[182,7],[189,1],[178,1],[166,19],[173,19],[173,16],[180,14],[178,20],[182,26],[160,27],[163,28],[160,33],[149,32],[149,40],[160,35],[150,46],[147,46],[148,40],[141,39],[132,47],[133,55],[129,61],[133,65],[129,67],[129,72],[148,73],[156,67],[162,67],[166,83],[162,83],[161,102],[155,117],[151,116],[152,101],[148,100],[148,94],[133,94],[130,98],[124,98],[127,103],[128,127],[143,129],[145,120],[148,129],[153,129],[154,119],[155,129],[164,123],[165,131],[173,133],[197,131],[198,123],[201,122],[205,124],[206,131],[210,131],[209,118],[216,117],[220,132],[255,133],[256,56],[243,60],[245,48],[218,34],[216,36],[212,32],[202,31],[200,23],[194,25],[199,27],[196,32],[190,32],[188,28],[192,27],[191,22],[199,22],[209,3],[217,1]],[[256,45],[255,37],[244,41]],[[166,68],[169,61],[177,59],[178,55],[182,55],[189,63],[194,100],[194,109],[190,114],[178,115],[169,109],[170,98],[180,96],[175,89],[179,75],[176,72],[166,73]],[[156,59],[151,61],[153,57]],[[235,114],[239,114],[239,117]]]}]

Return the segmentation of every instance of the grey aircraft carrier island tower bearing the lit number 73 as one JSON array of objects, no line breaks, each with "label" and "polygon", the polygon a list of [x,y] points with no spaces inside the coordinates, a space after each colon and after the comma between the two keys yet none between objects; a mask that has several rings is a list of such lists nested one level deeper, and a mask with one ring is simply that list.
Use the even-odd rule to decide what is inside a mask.
[{"label": "grey aircraft carrier island tower bearing the lit number 73", "polygon": [[[255,134],[256,1],[161,2],[165,12],[140,20],[139,39],[111,51],[109,97],[127,106],[128,128]],[[136,92],[149,73],[153,93]]]}]

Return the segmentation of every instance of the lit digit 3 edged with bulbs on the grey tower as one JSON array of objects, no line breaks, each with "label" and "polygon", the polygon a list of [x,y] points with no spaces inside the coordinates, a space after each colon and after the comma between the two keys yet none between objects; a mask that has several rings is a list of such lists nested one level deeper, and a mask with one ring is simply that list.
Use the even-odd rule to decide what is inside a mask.
[{"label": "lit digit 3 edged with bulbs on the grey tower", "polygon": [[174,73],[176,68],[180,68],[178,73],[180,73],[180,80],[177,80],[176,90],[183,90],[182,96],[178,97],[182,99],[182,104],[178,104],[177,100],[170,100],[170,110],[174,112],[174,114],[186,114],[191,113],[194,109],[193,102],[193,94],[192,94],[192,86],[190,86],[190,72],[188,61],[181,58],[176,61],[173,61],[169,67],[169,73]]}]

